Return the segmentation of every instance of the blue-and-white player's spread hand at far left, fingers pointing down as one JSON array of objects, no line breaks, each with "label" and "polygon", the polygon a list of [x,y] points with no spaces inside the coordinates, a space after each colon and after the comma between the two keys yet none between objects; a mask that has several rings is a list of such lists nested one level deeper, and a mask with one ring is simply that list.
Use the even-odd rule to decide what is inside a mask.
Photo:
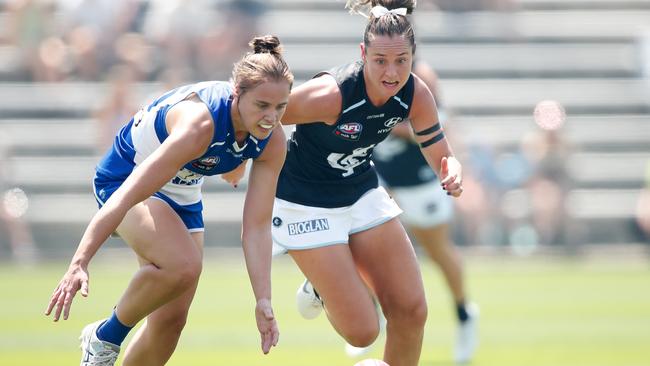
[{"label": "blue-and-white player's spread hand at far left, fingers pointing down", "polygon": [[82,296],[88,296],[88,270],[81,266],[71,265],[65,275],[63,275],[59,285],[54,289],[50,303],[45,310],[45,315],[50,315],[56,307],[54,321],[59,320],[61,312],[63,312],[63,320],[67,320],[68,315],[70,315],[72,299],[74,299],[74,296],[79,290],[81,290]]}]

